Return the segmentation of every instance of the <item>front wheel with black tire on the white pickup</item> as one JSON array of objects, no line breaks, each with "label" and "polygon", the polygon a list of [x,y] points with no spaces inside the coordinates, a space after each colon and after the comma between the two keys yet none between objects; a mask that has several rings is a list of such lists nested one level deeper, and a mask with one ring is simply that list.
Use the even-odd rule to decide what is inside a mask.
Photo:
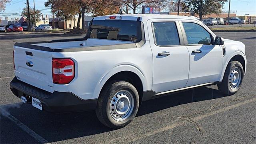
[{"label": "front wheel with black tire on the white pickup", "polygon": [[228,64],[223,80],[218,89],[227,96],[235,94],[241,87],[244,78],[244,69],[240,62],[232,61]]}]

